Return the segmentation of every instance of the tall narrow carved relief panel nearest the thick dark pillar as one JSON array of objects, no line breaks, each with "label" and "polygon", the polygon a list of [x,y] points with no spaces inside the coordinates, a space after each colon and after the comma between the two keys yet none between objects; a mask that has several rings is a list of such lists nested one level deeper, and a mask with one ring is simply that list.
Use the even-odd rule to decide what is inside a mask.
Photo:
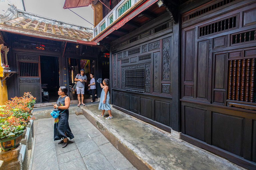
[{"label": "tall narrow carved relief panel nearest the thick dark pillar", "polygon": [[170,80],[170,37],[163,39],[163,80]]}]

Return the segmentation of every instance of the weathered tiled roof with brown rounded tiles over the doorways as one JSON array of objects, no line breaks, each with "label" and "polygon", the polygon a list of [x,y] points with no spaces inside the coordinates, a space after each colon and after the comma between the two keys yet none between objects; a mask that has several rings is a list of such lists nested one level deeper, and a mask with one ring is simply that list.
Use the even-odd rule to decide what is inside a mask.
[{"label": "weathered tiled roof with brown rounded tiles over the doorways", "polygon": [[11,6],[0,16],[0,30],[70,41],[90,41],[92,29],[28,13]]}]

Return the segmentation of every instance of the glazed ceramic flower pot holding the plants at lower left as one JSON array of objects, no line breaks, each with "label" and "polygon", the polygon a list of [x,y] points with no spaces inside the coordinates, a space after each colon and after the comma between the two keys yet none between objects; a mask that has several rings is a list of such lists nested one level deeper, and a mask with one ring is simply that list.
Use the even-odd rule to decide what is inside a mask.
[{"label": "glazed ceramic flower pot holding the plants at lower left", "polygon": [[17,146],[20,145],[21,139],[22,139],[22,133],[10,139],[2,139],[0,140],[0,144],[1,144],[0,147],[4,152],[10,149],[15,149]]}]

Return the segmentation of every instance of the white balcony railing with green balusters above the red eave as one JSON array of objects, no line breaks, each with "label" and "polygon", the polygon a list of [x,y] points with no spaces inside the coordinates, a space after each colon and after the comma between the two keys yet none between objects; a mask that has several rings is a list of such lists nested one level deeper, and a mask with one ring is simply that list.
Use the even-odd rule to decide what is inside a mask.
[{"label": "white balcony railing with green balusters above the red eave", "polygon": [[104,31],[108,26],[110,26],[118,18],[124,16],[127,11],[135,4],[141,2],[142,0],[122,0],[120,1],[106,17],[104,17],[101,22],[93,29],[93,38]]}]

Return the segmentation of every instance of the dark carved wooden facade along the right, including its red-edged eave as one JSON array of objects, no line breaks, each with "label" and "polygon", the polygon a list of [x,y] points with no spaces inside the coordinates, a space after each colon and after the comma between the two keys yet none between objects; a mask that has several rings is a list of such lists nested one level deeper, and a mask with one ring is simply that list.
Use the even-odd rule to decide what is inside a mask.
[{"label": "dark carved wooden facade along the right, including its red-edged eave", "polygon": [[93,39],[110,43],[113,107],[256,168],[256,2],[156,2]]}]

